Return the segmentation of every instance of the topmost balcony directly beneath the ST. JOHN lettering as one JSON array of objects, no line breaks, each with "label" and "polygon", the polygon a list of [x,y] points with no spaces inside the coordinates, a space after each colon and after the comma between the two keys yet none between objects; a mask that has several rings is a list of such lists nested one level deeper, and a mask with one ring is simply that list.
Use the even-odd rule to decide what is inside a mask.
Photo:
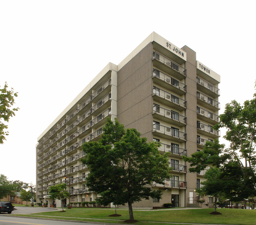
[{"label": "topmost balcony directly beneath the ST. JOHN lettering", "polygon": [[187,77],[187,70],[158,52],[153,53],[153,65],[179,80]]}]

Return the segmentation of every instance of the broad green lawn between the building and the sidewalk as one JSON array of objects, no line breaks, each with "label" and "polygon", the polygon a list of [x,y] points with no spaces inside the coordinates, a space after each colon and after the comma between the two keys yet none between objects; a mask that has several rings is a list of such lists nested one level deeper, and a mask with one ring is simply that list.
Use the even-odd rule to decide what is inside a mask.
[{"label": "broad green lawn between the building and the sidewalk", "polygon": [[[176,223],[213,223],[213,224],[239,224],[239,225],[255,225],[256,224],[256,210],[243,209],[218,209],[222,215],[211,215],[214,209],[187,209],[187,210],[163,210],[163,211],[138,211],[134,210],[134,218],[139,221],[152,222],[176,222]],[[121,221],[107,221],[104,219],[126,220],[129,219],[128,210],[117,210],[117,213],[122,215],[120,217],[109,217],[114,214],[114,209],[96,209],[96,208],[72,208],[66,212],[40,212],[33,213],[33,215],[47,215],[58,217],[81,217],[84,219],[76,219],[82,221],[92,221],[85,218],[101,219],[98,222],[121,223]],[[49,217],[48,217],[49,218]],[[56,217],[55,217],[56,218]],[[72,218],[66,218],[72,219]],[[137,222],[136,224],[151,224],[145,222]],[[160,224],[160,223],[157,223]]]}]

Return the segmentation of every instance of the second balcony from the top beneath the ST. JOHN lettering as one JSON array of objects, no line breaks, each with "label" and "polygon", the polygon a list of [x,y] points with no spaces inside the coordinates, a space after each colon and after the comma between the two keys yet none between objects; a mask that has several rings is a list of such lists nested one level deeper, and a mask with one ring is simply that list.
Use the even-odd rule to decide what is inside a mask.
[{"label": "second balcony from the top beneath the ST. JOHN lettering", "polygon": [[153,70],[153,79],[154,83],[159,84],[161,87],[171,90],[179,95],[187,93],[187,85],[157,69]]}]

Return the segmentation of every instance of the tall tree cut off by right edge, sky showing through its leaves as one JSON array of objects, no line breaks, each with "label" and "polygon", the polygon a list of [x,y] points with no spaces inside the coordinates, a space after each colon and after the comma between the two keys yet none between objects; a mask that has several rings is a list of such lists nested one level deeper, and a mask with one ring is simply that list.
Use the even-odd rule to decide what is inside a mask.
[{"label": "tall tree cut off by right edge, sky showing through its leaves", "polygon": [[256,93],[253,97],[242,106],[235,100],[226,104],[224,113],[219,115],[220,123],[213,127],[227,129],[224,138],[230,145],[225,149],[229,155],[226,164],[239,172],[241,186],[236,194],[240,198],[256,195]]}]

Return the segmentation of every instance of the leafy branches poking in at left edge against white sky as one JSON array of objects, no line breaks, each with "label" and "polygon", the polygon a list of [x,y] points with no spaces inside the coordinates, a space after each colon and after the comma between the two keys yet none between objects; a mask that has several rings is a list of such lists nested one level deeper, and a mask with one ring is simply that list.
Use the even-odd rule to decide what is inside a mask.
[{"label": "leafy branches poking in at left edge against white sky", "polygon": [[8,122],[10,117],[15,116],[14,111],[18,111],[19,108],[11,109],[11,106],[14,104],[14,97],[17,97],[17,92],[7,90],[8,86],[5,82],[3,89],[0,89],[0,144],[3,144],[3,141],[6,139],[5,136],[8,135],[8,131],[4,131],[8,126],[3,123],[3,120]]}]

